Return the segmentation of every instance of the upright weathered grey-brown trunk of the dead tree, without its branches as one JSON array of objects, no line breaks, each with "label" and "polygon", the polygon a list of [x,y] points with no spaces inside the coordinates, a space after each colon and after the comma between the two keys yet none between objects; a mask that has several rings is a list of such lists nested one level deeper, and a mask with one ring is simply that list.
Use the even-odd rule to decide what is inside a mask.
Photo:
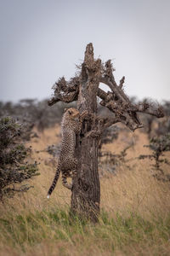
[{"label": "upright weathered grey-brown trunk of the dead tree, without its branches", "polygon": [[[79,90],[77,109],[97,113],[97,92],[99,88],[100,60],[94,61],[94,49],[88,44],[82,63],[82,84]],[[95,119],[94,119],[95,120]],[[98,172],[99,137],[86,137],[95,124],[92,119],[83,123],[82,132],[77,137],[76,157],[77,177],[73,181],[71,212],[94,222],[98,219],[100,185]]]}]

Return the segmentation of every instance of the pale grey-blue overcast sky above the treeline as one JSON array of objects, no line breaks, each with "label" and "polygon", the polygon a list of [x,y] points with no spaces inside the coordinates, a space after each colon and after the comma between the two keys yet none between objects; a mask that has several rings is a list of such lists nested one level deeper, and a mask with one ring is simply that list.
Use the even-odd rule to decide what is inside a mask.
[{"label": "pale grey-blue overcast sky above the treeline", "polygon": [[0,100],[49,98],[90,42],[128,96],[170,100],[170,0],[0,0]]}]

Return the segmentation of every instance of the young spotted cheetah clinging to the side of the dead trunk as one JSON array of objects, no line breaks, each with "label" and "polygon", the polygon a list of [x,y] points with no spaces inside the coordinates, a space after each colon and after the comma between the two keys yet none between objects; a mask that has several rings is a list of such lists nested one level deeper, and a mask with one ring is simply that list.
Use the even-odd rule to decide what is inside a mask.
[{"label": "young spotted cheetah clinging to the side of the dead trunk", "polygon": [[76,108],[65,109],[61,121],[61,149],[59,152],[59,161],[54,176],[54,181],[48,190],[48,198],[52,194],[59,179],[59,173],[62,173],[62,183],[67,189],[72,189],[72,183],[67,183],[67,177],[77,175],[77,159],[75,158],[76,136],[82,128],[82,120],[87,115],[87,111],[79,113]]}]

